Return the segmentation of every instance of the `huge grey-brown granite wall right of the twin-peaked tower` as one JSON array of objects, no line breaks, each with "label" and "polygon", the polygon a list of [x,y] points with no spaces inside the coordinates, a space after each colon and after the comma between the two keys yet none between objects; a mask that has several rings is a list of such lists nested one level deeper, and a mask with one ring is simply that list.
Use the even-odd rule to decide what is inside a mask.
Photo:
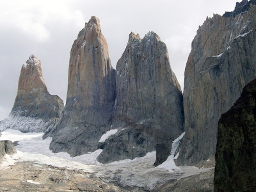
[{"label": "huge grey-brown granite wall right of the twin-peaked tower", "polygon": [[256,77],[255,16],[251,4],[250,11],[236,17],[207,18],[198,29],[185,70],[186,134],[179,165],[214,162],[218,120]]}]

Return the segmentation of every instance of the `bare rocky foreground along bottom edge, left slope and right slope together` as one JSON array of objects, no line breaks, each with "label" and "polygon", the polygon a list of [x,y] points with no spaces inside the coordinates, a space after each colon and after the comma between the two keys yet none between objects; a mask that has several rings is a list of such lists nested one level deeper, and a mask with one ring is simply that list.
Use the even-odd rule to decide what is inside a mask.
[{"label": "bare rocky foreground along bottom edge, left slope and right slope together", "polygon": [[[122,170],[117,170],[122,172]],[[1,170],[0,191],[213,191],[214,170],[157,184],[152,190],[104,182],[97,173],[19,162]],[[118,174],[116,175],[118,178]]]}]

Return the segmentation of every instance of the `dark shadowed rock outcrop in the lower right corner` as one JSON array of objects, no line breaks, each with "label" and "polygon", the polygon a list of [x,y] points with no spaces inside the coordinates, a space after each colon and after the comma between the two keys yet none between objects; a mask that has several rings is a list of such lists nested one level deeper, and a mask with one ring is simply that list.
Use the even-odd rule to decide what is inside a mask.
[{"label": "dark shadowed rock outcrop in the lower right corner", "polygon": [[256,80],[218,124],[214,191],[256,191]]}]

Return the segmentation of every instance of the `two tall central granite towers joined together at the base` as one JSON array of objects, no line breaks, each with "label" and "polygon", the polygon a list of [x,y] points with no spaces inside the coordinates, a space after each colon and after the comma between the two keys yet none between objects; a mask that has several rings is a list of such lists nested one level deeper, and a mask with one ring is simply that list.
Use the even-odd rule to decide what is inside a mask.
[{"label": "two tall central granite towers joined together at the base", "polygon": [[109,163],[163,145],[167,152],[158,147],[157,165],[182,131],[182,92],[159,36],[150,32],[141,40],[131,33],[115,71],[99,19],[92,17],[70,52],[63,115],[45,133],[52,136],[51,150],[78,156],[101,149],[98,161]]}]

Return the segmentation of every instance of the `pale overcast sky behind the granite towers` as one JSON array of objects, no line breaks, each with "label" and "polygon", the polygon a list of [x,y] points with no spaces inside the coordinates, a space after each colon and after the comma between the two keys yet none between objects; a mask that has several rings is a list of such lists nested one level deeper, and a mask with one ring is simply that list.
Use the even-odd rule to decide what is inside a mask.
[{"label": "pale overcast sky behind the granite towers", "polygon": [[131,31],[141,38],[154,31],[166,43],[183,88],[198,26],[207,16],[223,15],[235,6],[236,0],[0,0],[0,120],[12,109],[20,68],[31,54],[41,60],[49,92],[65,103],[70,49],[92,15],[100,19],[114,68]]}]

